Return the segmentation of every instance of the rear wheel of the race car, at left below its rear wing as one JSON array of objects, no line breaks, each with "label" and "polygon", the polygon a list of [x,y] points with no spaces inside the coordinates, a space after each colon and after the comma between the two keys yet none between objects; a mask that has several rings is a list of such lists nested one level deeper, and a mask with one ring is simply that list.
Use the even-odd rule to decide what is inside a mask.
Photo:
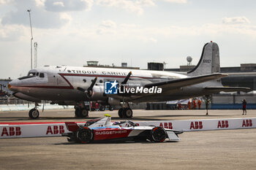
[{"label": "rear wheel of the race car, at left below its rear wing", "polygon": [[78,128],[78,131],[76,132],[76,136],[80,142],[83,144],[88,144],[93,139],[93,133],[90,128]]}]

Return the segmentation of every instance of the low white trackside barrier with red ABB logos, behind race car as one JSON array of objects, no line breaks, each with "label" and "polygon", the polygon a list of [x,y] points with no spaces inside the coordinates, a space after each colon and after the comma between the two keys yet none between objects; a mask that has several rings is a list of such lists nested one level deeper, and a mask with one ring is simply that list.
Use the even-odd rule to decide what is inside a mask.
[{"label": "low white trackside barrier with red ABB logos, behind race car", "polygon": [[[80,122],[79,124],[84,124]],[[136,122],[138,125],[156,125],[179,131],[214,131],[256,128],[256,118],[210,120],[160,120]],[[61,136],[67,132],[65,123],[0,123],[1,138]]]}]

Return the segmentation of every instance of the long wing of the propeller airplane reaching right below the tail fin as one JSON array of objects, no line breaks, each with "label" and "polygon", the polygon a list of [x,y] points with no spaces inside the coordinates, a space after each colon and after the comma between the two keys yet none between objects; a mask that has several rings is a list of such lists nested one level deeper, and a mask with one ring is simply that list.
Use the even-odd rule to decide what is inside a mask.
[{"label": "long wing of the propeller airplane reaching right below the tail fin", "polygon": [[162,88],[162,90],[175,90],[177,88],[182,88],[189,85],[195,85],[201,82],[217,80],[222,77],[227,77],[227,74],[215,73],[215,74],[206,74],[202,76],[187,77],[187,78],[178,79],[178,80],[169,80],[165,82],[153,82],[145,85],[145,88],[151,88],[153,86],[157,86],[158,88]]}]

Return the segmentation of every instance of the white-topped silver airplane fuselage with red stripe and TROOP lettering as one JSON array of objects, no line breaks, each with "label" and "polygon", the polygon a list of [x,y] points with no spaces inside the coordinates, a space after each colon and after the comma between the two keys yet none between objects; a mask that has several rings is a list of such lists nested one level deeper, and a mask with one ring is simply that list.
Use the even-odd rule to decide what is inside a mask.
[{"label": "white-topped silver airplane fuselage with red stripe and TROOP lettering", "polygon": [[[91,101],[86,97],[86,93],[77,88],[89,88],[91,82],[97,77],[94,86],[99,93],[104,93],[104,82],[122,82],[127,74],[132,71],[132,75],[127,83],[143,86],[152,82],[162,82],[168,80],[178,80],[188,77],[186,74],[174,72],[150,71],[150,70],[130,70],[130,69],[109,69],[97,67],[72,67],[72,66],[44,66],[39,69],[32,69],[28,76],[20,77],[10,82],[10,90],[22,93],[26,96],[48,101]],[[212,84],[220,85],[214,81]],[[165,90],[161,94],[138,99],[138,102],[146,101],[168,101],[193,96],[206,95],[203,87],[208,82],[197,85],[177,88],[176,90]],[[132,98],[132,96],[129,96]],[[138,96],[137,96],[138,97]],[[105,100],[108,96],[98,95],[94,100]],[[136,99],[134,100],[136,101]]]}]

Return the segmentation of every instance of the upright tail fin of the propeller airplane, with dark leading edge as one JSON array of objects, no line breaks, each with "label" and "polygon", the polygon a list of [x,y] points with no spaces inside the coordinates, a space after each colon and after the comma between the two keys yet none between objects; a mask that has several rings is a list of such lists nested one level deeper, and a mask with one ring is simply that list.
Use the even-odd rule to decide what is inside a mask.
[{"label": "upright tail fin of the propeller airplane, with dark leading edge", "polygon": [[219,72],[219,47],[215,42],[208,42],[203,46],[203,52],[197,66],[187,74],[189,76],[198,76]]}]

